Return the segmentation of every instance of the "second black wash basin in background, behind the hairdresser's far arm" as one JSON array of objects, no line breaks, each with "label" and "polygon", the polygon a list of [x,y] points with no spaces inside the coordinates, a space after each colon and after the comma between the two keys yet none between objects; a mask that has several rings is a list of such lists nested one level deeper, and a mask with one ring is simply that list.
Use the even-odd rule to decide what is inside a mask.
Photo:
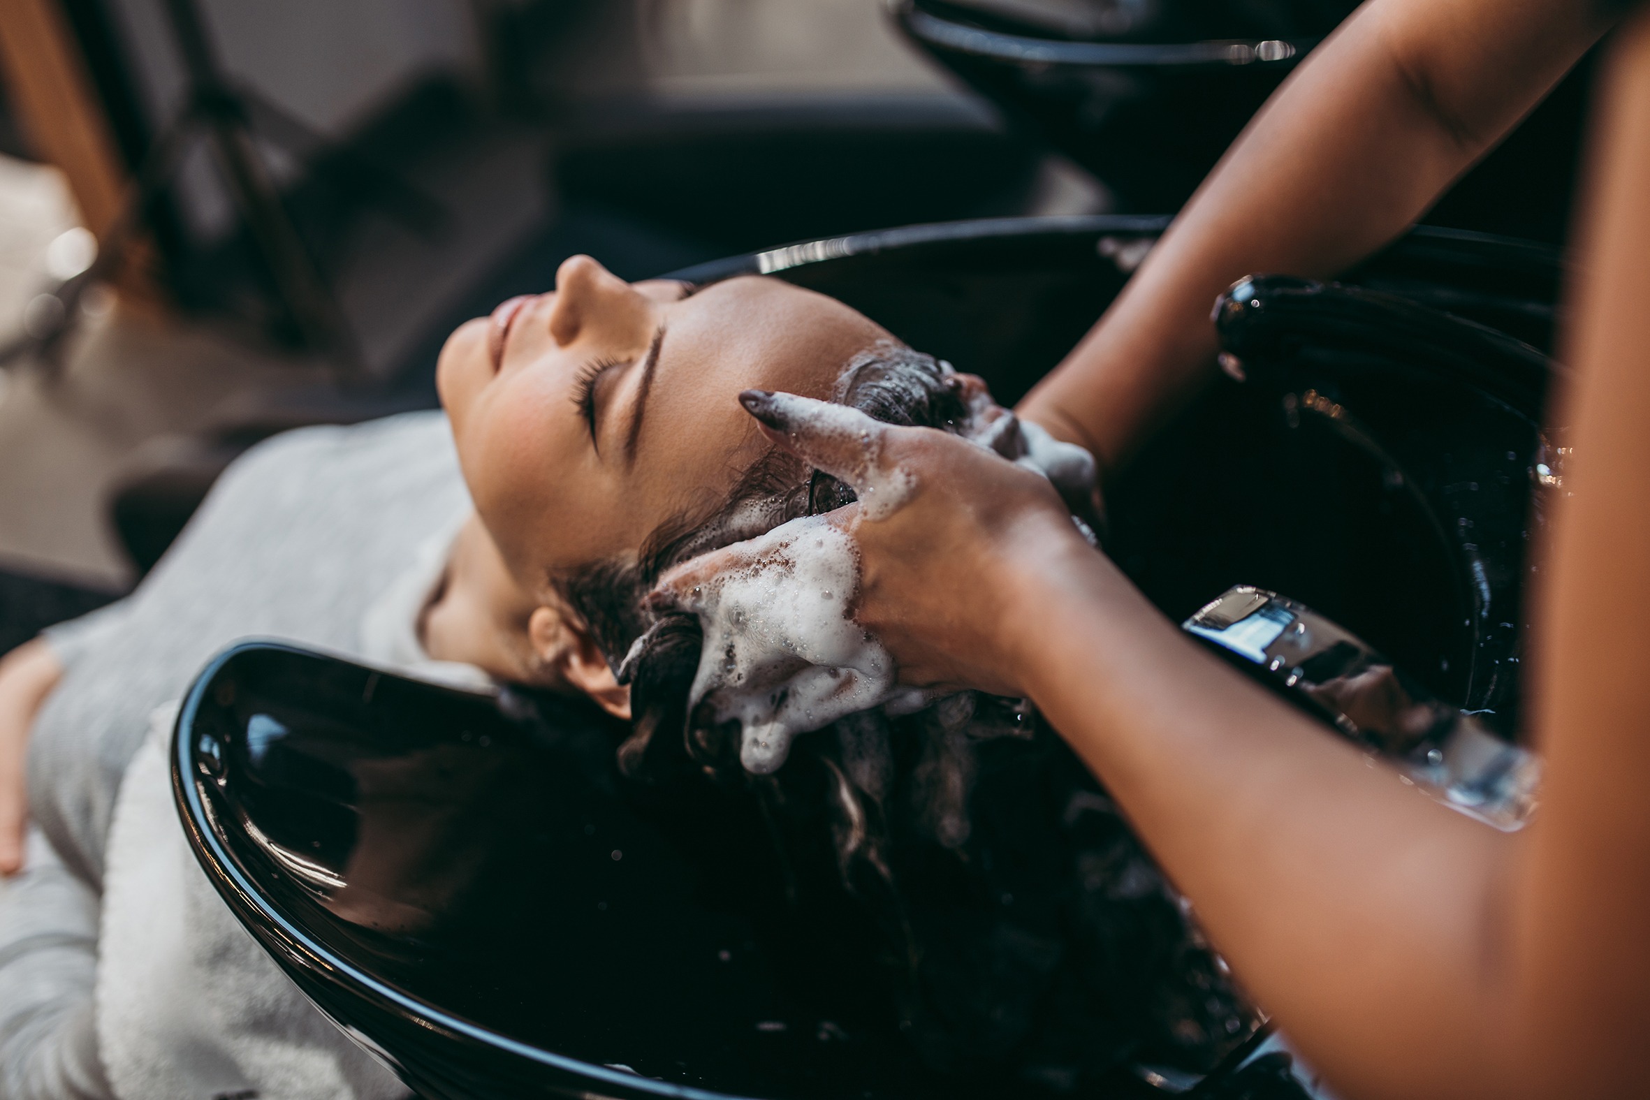
[{"label": "second black wash basin in background, behind the hairdresser's far arm", "polygon": [[[1178,209],[1351,0],[891,0],[906,38],[1018,129],[1099,176],[1119,211]],[[1591,87],[1582,63],[1427,214],[1563,241]]]}]

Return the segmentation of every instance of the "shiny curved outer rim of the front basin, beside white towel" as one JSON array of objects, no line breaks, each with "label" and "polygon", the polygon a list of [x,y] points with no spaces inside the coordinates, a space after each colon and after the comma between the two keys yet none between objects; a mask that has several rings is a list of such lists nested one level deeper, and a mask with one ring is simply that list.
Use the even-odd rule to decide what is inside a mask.
[{"label": "shiny curved outer rim of the front basin, beside white towel", "polygon": [[[183,831],[190,841],[196,861],[213,882],[218,894],[231,907],[241,924],[252,932],[277,963],[289,973],[294,968],[328,975],[333,981],[350,986],[350,994],[375,1001],[389,1014],[414,1018],[434,1032],[444,1032],[449,1039],[469,1041],[483,1047],[492,1047],[502,1054],[536,1062],[549,1070],[566,1075],[571,1092],[579,1095],[596,1095],[587,1092],[596,1085],[602,1097],[624,1100],[644,1100],[647,1097],[676,1097],[683,1100],[729,1100],[733,1093],[711,1092],[690,1085],[678,1085],[663,1080],[625,1074],[606,1065],[594,1065],[578,1059],[553,1054],[549,1051],[525,1044],[497,1031],[480,1027],[470,1021],[457,1018],[436,1004],[409,996],[401,990],[355,966],[340,953],[309,935],[304,928],[287,919],[269,894],[261,889],[248,869],[236,859],[231,848],[223,843],[223,825],[218,821],[214,808],[203,797],[201,785],[210,782],[201,773],[201,762],[196,745],[190,744],[188,731],[195,727],[195,719],[201,704],[213,689],[216,675],[239,655],[252,650],[282,650],[295,655],[314,656],[309,650],[282,645],[279,642],[246,642],[219,653],[195,679],[188,696],[178,711],[178,721],[172,737],[172,790],[178,806]],[[299,975],[294,975],[295,978]],[[300,986],[309,983],[300,981]],[[307,991],[310,991],[307,988]],[[314,991],[310,991],[314,996]],[[351,1037],[361,1041],[355,1029],[346,1029]],[[376,1042],[363,1042],[378,1057],[386,1052]],[[393,1067],[394,1069],[394,1067]],[[582,1082],[584,1088],[578,1085]],[[738,1100],[733,1097],[733,1100]]]}]

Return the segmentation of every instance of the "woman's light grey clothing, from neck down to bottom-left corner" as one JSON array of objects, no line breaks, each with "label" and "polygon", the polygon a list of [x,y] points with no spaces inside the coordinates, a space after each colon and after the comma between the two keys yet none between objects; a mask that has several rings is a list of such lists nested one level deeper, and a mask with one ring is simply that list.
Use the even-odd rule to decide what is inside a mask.
[{"label": "woman's light grey clothing, from neck down to bottom-left corner", "polygon": [[219,478],[137,592],[46,632],[64,676],[30,737],[28,793],[53,851],[0,892],[0,1100],[111,1095],[92,1021],[99,894],[155,707],[241,638],[358,653],[368,609],[469,506],[439,412],[290,432]]}]

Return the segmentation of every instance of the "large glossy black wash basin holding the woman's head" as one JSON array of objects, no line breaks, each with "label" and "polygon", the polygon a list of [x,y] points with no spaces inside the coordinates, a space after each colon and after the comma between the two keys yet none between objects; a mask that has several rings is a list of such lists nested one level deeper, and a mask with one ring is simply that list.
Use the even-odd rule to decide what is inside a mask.
[{"label": "large glossy black wash basin holding the woman's head", "polygon": [[[929,226],[685,274],[825,290],[1013,401],[1160,228]],[[1561,470],[1538,432],[1548,361],[1464,317],[1544,343],[1556,267],[1434,233],[1356,277],[1234,289],[1221,333],[1244,381],[1112,488],[1109,549],[1175,620],[1233,584],[1285,592],[1506,731],[1525,533]],[[685,821],[614,782],[612,745],[568,704],[249,645],[191,689],[173,780],[229,907],[421,1095],[1048,1095],[927,1070],[838,914],[774,904],[780,872],[749,806]],[[1280,1082],[1208,1095],[1300,1095]],[[1142,1070],[1102,1095],[1175,1084]]]}]

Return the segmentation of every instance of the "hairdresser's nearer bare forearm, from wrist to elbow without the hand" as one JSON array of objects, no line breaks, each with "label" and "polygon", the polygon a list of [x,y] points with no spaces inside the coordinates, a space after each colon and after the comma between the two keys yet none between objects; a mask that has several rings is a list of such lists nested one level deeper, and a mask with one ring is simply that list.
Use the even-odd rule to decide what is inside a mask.
[{"label": "hairdresser's nearer bare forearm, from wrist to elbow without the hand", "polygon": [[1505,1084],[1485,945],[1508,838],[1203,653],[1094,554],[1018,604],[1020,683],[1318,1069],[1368,1095]]}]

